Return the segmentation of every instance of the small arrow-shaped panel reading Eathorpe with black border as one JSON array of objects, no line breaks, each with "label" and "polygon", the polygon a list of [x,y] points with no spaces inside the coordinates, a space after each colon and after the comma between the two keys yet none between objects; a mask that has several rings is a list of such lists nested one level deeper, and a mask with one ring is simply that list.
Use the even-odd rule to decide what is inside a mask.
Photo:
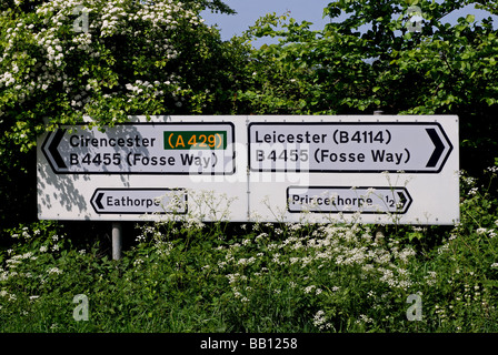
[{"label": "small arrow-shaped panel reading Eathorpe with black border", "polygon": [[185,189],[97,189],[90,199],[99,214],[187,213]]}]

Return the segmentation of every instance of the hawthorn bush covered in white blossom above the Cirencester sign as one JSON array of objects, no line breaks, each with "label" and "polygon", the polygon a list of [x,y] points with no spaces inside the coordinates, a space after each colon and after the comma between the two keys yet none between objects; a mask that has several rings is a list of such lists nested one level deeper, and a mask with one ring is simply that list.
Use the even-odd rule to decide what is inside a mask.
[{"label": "hawthorn bush covered in white blossom above the Cirencester sign", "polygon": [[218,0],[2,2],[0,226],[36,206],[40,133],[84,115],[112,125],[135,114],[230,110],[246,50],[202,23],[205,8],[232,12]]}]

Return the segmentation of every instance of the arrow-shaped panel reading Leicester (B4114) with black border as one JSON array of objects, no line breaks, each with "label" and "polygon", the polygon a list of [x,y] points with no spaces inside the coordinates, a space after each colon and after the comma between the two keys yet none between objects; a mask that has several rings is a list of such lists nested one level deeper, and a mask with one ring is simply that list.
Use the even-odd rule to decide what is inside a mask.
[{"label": "arrow-shaped panel reading Leicester (B4114) with black border", "polygon": [[438,173],[454,146],[437,122],[249,124],[251,171]]}]

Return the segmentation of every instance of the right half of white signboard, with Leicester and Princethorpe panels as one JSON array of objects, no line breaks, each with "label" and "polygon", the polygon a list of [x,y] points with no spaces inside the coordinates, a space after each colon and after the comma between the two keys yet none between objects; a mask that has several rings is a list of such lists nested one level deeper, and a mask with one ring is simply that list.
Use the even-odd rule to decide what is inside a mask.
[{"label": "right half of white signboard, with Leicester and Princethorpe panels", "polygon": [[247,139],[260,221],[459,220],[455,115],[249,116]]}]

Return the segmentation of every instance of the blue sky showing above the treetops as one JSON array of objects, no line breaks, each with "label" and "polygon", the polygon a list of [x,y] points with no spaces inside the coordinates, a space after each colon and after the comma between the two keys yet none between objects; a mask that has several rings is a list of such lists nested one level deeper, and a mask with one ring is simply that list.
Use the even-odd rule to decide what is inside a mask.
[{"label": "blue sky showing above the treetops", "polygon": [[[223,40],[229,40],[236,34],[242,34],[242,32],[252,26],[259,17],[271,12],[283,14],[290,11],[292,18],[298,21],[306,20],[313,22],[311,28],[318,30],[322,29],[329,21],[329,19],[322,18],[323,8],[329,2],[331,2],[331,0],[225,0],[225,3],[235,9],[237,14],[227,16],[205,11],[202,18],[209,26],[218,24]],[[468,6],[449,14],[446,20],[448,22],[456,22],[456,19],[469,13],[475,14],[476,20],[489,16],[486,11],[476,10],[474,9],[474,6]],[[255,42],[253,45],[257,47],[257,44],[262,42],[263,41]]]}]

